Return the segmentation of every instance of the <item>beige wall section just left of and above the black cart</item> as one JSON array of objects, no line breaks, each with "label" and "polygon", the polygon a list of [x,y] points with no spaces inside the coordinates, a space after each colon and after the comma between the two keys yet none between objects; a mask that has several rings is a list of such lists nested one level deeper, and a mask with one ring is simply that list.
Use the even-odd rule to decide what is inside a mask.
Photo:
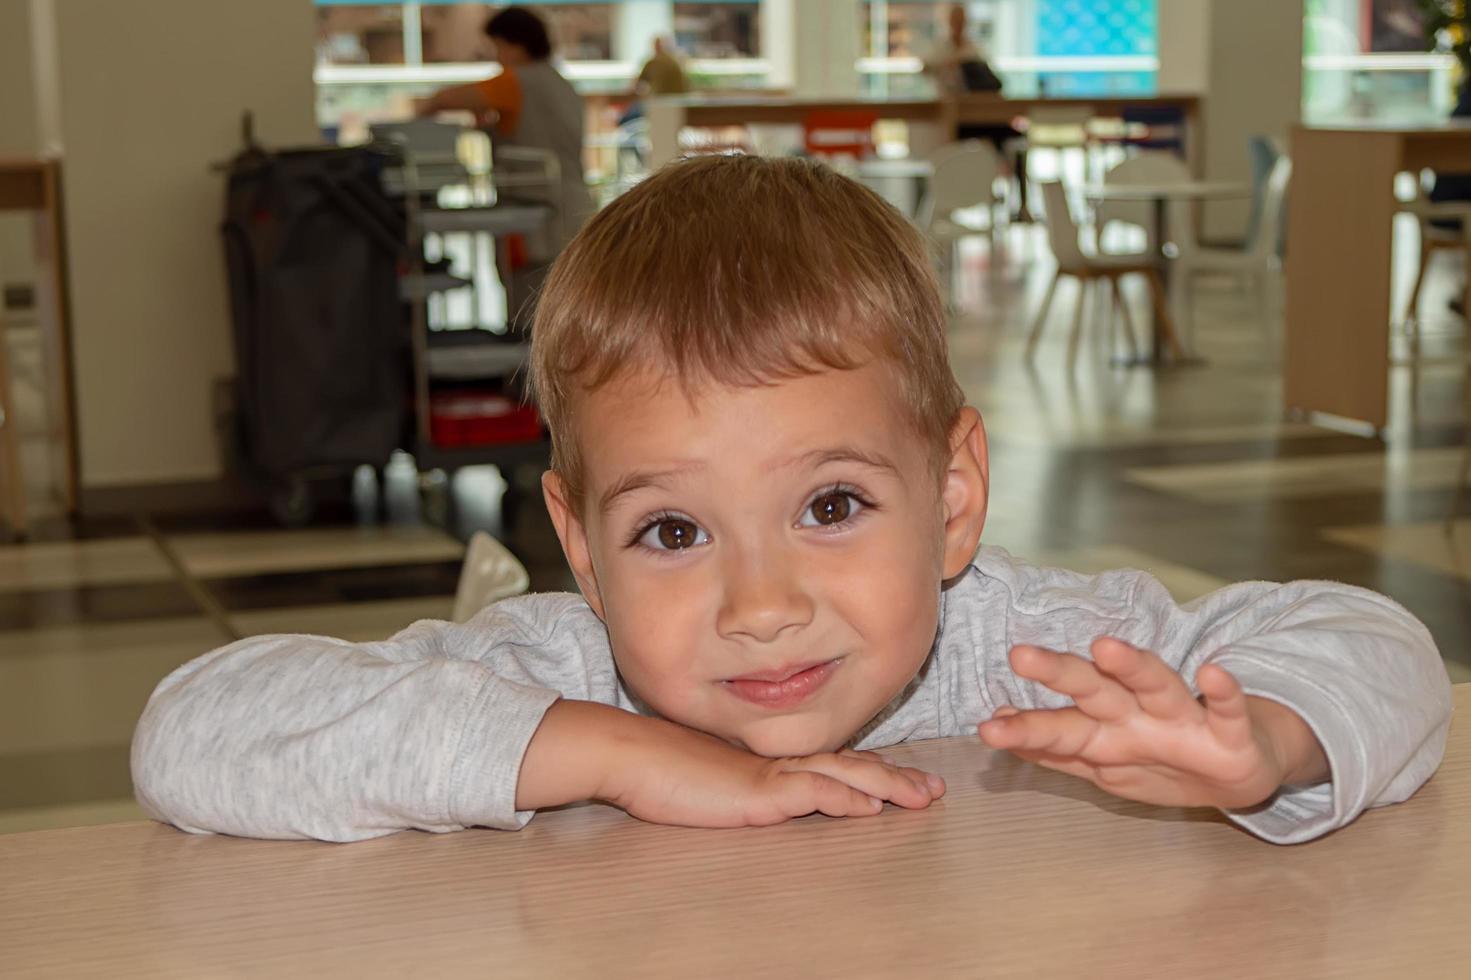
[{"label": "beige wall section just left of and above the black cart", "polygon": [[47,4],[82,483],[213,477],[210,387],[232,355],[209,165],[238,147],[244,109],[268,144],[316,141],[312,3]]}]

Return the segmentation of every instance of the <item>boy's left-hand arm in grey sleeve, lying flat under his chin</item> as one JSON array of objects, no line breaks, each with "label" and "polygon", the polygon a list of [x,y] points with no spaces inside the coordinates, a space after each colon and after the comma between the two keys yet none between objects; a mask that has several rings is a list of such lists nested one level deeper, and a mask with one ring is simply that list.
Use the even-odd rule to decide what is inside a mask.
[{"label": "boy's left-hand arm in grey sleeve, lying flat under his chin", "polygon": [[202,656],[138,721],[138,800],[190,831],[360,840],[518,828],[585,799],[736,827],[921,808],[944,792],[872,755],[765,759],[616,708],[606,633],[568,599],[507,600],[382,643],[269,636]]}]

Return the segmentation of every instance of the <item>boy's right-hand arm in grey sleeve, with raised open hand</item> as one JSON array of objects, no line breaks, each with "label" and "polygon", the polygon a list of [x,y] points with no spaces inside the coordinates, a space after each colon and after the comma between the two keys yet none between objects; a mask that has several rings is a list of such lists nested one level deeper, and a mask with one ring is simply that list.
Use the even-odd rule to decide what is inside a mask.
[{"label": "boy's right-hand arm in grey sleeve, with raised open hand", "polygon": [[[1445,667],[1424,625],[1384,596],[1336,583],[1244,583],[1180,606],[1143,572],[1089,580],[991,564],[1011,580],[1014,602],[1009,649],[996,658],[1003,662],[983,671],[984,700],[1002,718],[1024,712],[987,722],[997,748],[1122,796],[1214,802],[1277,843],[1400,802],[1440,762],[1450,718]],[[1037,581],[1049,577],[1056,581]],[[1144,653],[1096,646],[1102,637]],[[1077,661],[1047,650],[1081,658],[1086,674],[1059,680]],[[1180,681],[1150,674],[1153,656]],[[1061,711],[1028,711],[1036,708]],[[1140,774],[1149,771],[1168,780],[1146,784]],[[1219,795],[1202,798],[1202,784]]]}]

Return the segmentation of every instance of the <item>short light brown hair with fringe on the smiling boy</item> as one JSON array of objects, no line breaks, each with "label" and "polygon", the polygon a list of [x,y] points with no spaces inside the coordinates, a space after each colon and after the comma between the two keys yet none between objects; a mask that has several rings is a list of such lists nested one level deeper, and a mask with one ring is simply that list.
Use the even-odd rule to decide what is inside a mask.
[{"label": "short light brown hair with fringe on the smiling boy", "polygon": [[893,366],[906,415],[943,466],[964,396],[919,232],[821,163],[702,156],[610,203],[556,260],[537,305],[531,383],[552,469],[581,508],[580,393],[640,369],[696,394],[875,358]]}]

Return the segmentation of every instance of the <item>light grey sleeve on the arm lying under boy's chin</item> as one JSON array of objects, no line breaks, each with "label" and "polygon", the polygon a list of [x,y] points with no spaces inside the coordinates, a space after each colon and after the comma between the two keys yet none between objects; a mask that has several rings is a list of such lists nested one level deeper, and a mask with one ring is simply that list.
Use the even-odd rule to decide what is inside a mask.
[{"label": "light grey sleeve on the arm lying under boy's chin", "polygon": [[522,827],[516,780],[546,709],[616,700],[591,612],[546,615],[538,599],[381,643],[262,636],[185,664],[134,733],[138,802],[182,830],[246,837]]}]

